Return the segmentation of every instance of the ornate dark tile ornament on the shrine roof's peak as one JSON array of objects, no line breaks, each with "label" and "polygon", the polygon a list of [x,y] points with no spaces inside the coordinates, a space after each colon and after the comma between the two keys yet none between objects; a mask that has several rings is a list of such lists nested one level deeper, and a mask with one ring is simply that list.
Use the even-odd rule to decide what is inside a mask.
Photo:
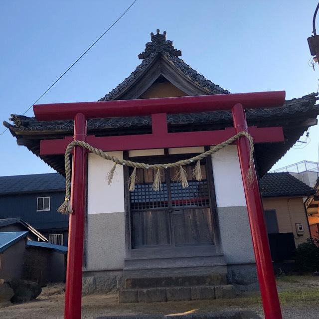
[{"label": "ornate dark tile ornament on the shrine roof's peak", "polygon": [[159,53],[169,55],[171,57],[181,56],[181,51],[173,47],[173,42],[166,40],[166,31],[160,34],[160,29],[156,30],[156,34],[151,32],[152,42],[145,45],[145,51],[139,54],[139,59],[144,60],[148,57],[155,57]]}]

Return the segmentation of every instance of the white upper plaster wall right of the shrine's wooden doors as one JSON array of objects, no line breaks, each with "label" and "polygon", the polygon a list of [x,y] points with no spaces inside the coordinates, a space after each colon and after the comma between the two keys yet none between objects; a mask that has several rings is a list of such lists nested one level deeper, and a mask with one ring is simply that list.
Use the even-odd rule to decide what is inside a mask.
[{"label": "white upper plaster wall right of the shrine's wooden doors", "polygon": [[237,146],[229,145],[212,155],[217,207],[246,206]]}]

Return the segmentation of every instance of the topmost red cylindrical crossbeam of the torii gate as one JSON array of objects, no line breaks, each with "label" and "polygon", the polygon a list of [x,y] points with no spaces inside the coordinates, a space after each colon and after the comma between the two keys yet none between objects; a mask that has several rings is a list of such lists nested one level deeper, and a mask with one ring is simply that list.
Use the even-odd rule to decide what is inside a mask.
[{"label": "topmost red cylindrical crossbeam of the torii gate", "polygon": [[191,113],[230,110],[236,103],[244,108],[270,108],[285,102],[285,91],[216,94],[172,98],[78,102],[33,105],[38,121],[73,120],[77,113],[87,119],[142,116],[155,113]]}]

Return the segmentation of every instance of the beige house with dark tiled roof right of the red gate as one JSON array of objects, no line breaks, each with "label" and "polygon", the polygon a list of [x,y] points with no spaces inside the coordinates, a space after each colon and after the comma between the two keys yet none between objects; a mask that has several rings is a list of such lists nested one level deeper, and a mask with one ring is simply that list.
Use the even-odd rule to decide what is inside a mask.
[{"label": "beige house with dark tiled roof right of the red gate", "polygon": [[288,172],[265,174],[260,189],[273,260],[293,259],[295,248],[310,238],[303,198],[315,191]]}]

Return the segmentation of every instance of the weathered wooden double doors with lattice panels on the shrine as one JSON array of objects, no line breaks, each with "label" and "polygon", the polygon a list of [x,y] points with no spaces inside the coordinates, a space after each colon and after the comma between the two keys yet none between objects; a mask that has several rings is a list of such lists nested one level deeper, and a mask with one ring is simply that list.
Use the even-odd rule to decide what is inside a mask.
[{"label": "weathered wooden double doors with lattice panels on the shrine", "polygon": [[213,244],[205,165],[202,181],[192,179],[193,168],[185,166],[187,188],[176,181],[176,169],[165,169],[160,191],[152,190],[154,170],[137,169],[138,183],[130,194],[132,248]]}]

